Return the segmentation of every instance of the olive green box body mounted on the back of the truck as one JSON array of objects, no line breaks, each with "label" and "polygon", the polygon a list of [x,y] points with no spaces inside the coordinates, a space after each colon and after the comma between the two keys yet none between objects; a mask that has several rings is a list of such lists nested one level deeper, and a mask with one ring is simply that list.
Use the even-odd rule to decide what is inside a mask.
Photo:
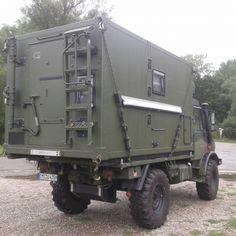
[{"label": "olive green box body mounted on the back of the truck", "polygon": [[[78,60],[63,54],[66,34],[83,27],[89,28],[92,45],[93,126],[89,142],[89,134],[81,127],[80,131],[66,130],[77,117],[80,122],[87,117],[87,111],[66,111],[67,72],[63,65],[66,57],[72,70],[73,65],[86,70],[87,59],[82,55],[86,38],[78,45]],[[5,150],[9,157],[52,156],[64,162],[135,158],[144,164],[156,157],[168,160],[170,154],[176,159],[189,157],[194,150],[192,67],[184,60],[106,19],[102,24],[94,19],[18,36],[15,43],[15,57],[11,49],[8,52],[6,88]],[[154,71],[163,76],[162,94],[154,91]],[[70,95],[70,103],[77,95]],[[120,109],[126,133],[121,127]],[[40,130],[33,135],[29,129],[36,130],[37,122]]]}]

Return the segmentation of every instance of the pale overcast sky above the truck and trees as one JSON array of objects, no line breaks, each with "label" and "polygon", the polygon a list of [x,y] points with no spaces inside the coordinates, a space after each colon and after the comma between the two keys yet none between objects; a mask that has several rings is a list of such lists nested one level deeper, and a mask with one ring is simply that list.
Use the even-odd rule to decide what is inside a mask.
[{"label": "pale overcast sky above the truck and trees", "polygon": [[[178,56],[207,54],[218,68],[236,59],[235,0],[107,0],[113,21]],[[14,24],[29,0],[1,1],[0,25]]]}]

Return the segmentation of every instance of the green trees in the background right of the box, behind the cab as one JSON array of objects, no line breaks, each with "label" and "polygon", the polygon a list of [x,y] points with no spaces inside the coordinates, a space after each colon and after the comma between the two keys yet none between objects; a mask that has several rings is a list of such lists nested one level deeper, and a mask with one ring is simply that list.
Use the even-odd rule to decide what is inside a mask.
[{"label": "green trees in the background right of the box, behind the cab", "polygon": [[206,55],[183,57],[195,68],[194,97],[200,104],[208,102],[216,113],[217,126],[224,129],[224,136],[236,139],[236,60],[223,62],[216,71],[205,63]]}]

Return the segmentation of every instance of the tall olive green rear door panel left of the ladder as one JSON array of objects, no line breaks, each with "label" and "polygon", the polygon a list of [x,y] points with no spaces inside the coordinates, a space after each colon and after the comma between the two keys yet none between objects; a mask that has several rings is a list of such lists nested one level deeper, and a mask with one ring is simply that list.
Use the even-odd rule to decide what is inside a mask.
[{"label": "tall olive green rear door panel left of the ladder", "polygon": [[[29,144],[62,146],[65,142],[65,86],[62,73],[63,40],[30,45],[29,91],[35,97],[40,124]],[[29,100],[30,100],[29,97]],[[29,126],[35,127],[33,109],[27,106]]]}]

